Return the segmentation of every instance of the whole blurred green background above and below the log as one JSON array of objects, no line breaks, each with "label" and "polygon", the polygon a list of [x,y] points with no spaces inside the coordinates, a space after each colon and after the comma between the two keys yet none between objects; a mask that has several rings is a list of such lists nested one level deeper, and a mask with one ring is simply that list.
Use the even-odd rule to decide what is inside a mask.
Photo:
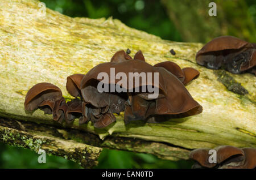
[{"label": "whole blurred green background above and below the log", "polygon": [[[109,18],[109,16],[113,16],[129,27],[141,29],[166,40],[207,42],[212,37],[210,33],[205,33],[205,27],[210,27],[217,32],[217,35],[236,35],[245,40],[255,40],[255,33],[251,33],[251,31],[255,31],[256,3],[252,0],[239,1],[239,3],[236,0],[227,0],[223,5],[221,3],[224,1],[216,1],[219,15],[219,19],[216,18],[217,25],[209,24],[208,20],[203,17],[200,19],[202,22],[196,27],[193,22],[192,24],[186,22],[185,16],[191,17],[197,12],[208,13],[208,3],[204,0],[193,1],[193,7],[189,5],[192,2],[190,0],[176,1],[177,3],[174,3],[173,0],[44,0],[42,2],[46,3],[48,8],[72,17]],[[196,2],[205,4],[200,3],[199,6],[199,3]],[[179,3],[181,4],[179,5]],[[181,5],[186,7],[184,12],[179,10]],[[236,11],[236,8],[239,11]],[[182,17],[180,16],[180,19],[171,18],[170,14],[173,10],[181,12]],[[229,24],[226,23],[225,26],[223,22]],[[200,27],[201,24],[202,27]],[[226,34],[219,33],[223,32],[221,29],[223,27],[230,31],[227,31]],[[192,28],[197,32],[195,37],[185,36],[186,32]],[[196,38],[196,35],[200,35],[200,33],[203,35],[203,32],[204,37]],[[47,155],[46,164],[39,164],[38,156],[33,151],[0,143],[0,168],[81,168],[75,162],[49,155]],[[104,149],[96,168],[191,168],[192,164],[192,161],[174,162],[160,160],[152,155]]]}]

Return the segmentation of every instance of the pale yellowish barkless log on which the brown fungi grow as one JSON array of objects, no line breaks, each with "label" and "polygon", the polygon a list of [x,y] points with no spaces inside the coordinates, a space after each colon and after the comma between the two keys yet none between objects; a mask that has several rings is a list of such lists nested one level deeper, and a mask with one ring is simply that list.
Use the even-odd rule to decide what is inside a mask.
[{"label": "pale yellowish barkless log on which the brown fungi grow", "polygon": [[[217,80],[213,70],[196,64],[195,54],[203,44],[162,40],[112,18],[70,18],[48,8],[46,16],[38,15],[39,1],[1,0],[0,5],[1,117],[28,125],[34,122],[47,128],[60,128],[64,141],[72,139],[173,160],[187,159],[189,150],[195,148],[223,144],[256,146],[255,77],[226,72],[248,93],[238,95],[229,91]],[[117,50],[127,48],[131,55],[141,49],[151,65],[174,61],[181,67],[199,70],[199,78],[188,84],[187,89],[203,106],[203,113],[158,124],[133,122],[129,125],[124,124],[121,114],[114,125],[98,130],[90,122],[79,126],[76,119],[71,126],[58,125],[51,115],[44,115],[40,110],[33,114],[24,111],[24,97],[32,85],[55,84],[67,100],[71,99],[65,89],[67,76],[86,74],[93,66],[110,61]],[[170,49],[174,49],[176,55],[171,55]],[[15,131],[15,127],[13,129]],[[31,131],[34,135],[41,133],[37,128]],[[84,134],[92,138],[86,139]]]}]

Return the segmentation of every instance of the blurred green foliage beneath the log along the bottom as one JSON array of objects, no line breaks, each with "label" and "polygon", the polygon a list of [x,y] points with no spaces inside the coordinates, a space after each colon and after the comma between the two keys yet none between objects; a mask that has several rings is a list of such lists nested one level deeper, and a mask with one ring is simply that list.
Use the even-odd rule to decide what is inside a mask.
[{"label": "blurred green foliage beneath the log along the bottom", "polygon": [[[48,155],[38,163],[36,152],[0,143],[0,168],[81,168],[63,157]],[[95,168],[191,168],[192,161],[160,160],[153,155],[104,149]]]}]

